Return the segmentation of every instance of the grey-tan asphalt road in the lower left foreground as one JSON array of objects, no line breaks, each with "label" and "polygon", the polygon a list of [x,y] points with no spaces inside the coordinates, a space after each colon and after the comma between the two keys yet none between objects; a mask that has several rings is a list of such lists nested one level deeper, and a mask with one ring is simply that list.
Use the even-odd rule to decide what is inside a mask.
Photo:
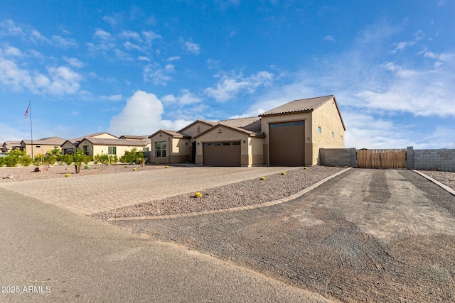
[{"label": "grey-tan asphalt road in the lower left foreground", "polygon": [[0,189],[0,287],[0,302],[326,302],[6,189]]}]

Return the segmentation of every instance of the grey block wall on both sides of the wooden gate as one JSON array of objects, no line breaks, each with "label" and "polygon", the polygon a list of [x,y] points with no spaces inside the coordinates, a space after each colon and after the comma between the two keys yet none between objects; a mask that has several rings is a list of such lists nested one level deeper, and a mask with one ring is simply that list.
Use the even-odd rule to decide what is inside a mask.
[{"label": "grey block wall on both sides of the wooden gate", "polygon": [[[355,148],[321,148],[319,164],[326,166],[357,167]],[[414,150],[406,148],[406,168],[408,170],[439,170],[455,172],[455,149]]]}]

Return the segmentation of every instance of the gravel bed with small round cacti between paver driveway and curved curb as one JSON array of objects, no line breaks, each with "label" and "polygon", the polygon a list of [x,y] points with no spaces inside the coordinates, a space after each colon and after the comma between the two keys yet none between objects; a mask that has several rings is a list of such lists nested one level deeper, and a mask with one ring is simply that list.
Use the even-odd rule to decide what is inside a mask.
[{"label": "gravel bed with small round cacti between paver driveway and curved curb", "polygon": [[343,167],[313,166],[289,170],[286,175],[265,176],[266,180],[257,178],[205,189],[200,191],[203,195],[200,199],[193,197],[194,193],[181,194],[146,204],[103,211],[93,214],[92,217],[107,220],[112,217],[162,216],[262,204],[289,197],[343,169]]}]

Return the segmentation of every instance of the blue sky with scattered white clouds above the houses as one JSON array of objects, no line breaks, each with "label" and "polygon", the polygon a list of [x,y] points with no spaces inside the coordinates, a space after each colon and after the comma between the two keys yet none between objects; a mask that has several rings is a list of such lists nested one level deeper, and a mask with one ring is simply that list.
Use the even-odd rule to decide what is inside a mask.
[{"label": "blue sky with scattered white clouds above the houses", "polygon": [[[127,3],[128,2],[128,3]],[[336,96],[346,148],[455,148],[455,1],[0,0],[0,141]]]}]

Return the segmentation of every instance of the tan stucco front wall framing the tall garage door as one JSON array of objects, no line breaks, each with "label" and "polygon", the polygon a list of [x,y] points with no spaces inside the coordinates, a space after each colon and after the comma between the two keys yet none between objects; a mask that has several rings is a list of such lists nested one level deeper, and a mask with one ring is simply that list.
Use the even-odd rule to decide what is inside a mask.
[{"label": "tan stucco front wall framing the tall garage door", "polygon": [[[313,133],[311,131],[312,116],[311,113],[284,114],[279,116],[265,116],[261,119],[261,129],[265,133],[264,138],[264,164],[269,164],[269,124],[288,121],[305,121],[305,143],[311,143]],[[316,129],[317,131],[317,129]],[[308,139],[309,138],[309,139]],[[308,159],[313,158],[313,149],[311,144],[305,145],[305,165],[313,165]],[[316,163],[314,163],[316,164]]]}]

